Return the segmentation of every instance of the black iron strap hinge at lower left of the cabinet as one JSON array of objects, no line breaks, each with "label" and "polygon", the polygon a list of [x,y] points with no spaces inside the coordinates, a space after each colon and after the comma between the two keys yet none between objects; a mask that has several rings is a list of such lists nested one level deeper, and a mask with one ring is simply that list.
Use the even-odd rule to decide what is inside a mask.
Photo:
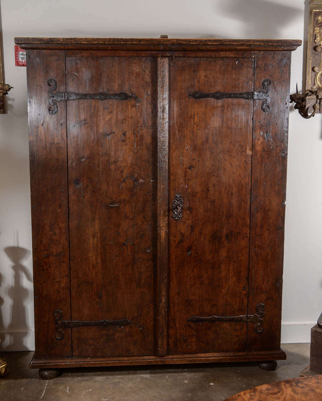
[{"label": "black iron strap hinge at lower left of the cabinet", "polygon": [[81,320],[63,320],[63,313],[60,309],[54,310],[55,316],[55,330],[57,332],[55,338],[56,340],[62,340],[64,338],[64,332],[62,329],[65,328],[73,328],[73,327],[86,327],[86,326],[129,326],[129,324],[133,323],[129,319],[121,319],[121,320],[97,320],[94,322],[82,322]]}]

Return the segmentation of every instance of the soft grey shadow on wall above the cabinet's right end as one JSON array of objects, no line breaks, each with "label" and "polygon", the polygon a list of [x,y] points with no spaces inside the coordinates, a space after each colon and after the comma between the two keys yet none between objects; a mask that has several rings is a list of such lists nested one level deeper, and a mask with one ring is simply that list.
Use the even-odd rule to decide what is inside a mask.
[{"label": "soft grey shadow on wall above the cabinet's right end", "polygon": [[[216,1],[214,8],[216,14],[219,12],[222,16],[244,22],[243,35],[247,39],[280,39],[282,28],[303,15],[302,9],[259,0]],[[239,32],[241,29],[238,26]],[[230,38],[235,38],[234,26],[228,26],[227,32]]]}]

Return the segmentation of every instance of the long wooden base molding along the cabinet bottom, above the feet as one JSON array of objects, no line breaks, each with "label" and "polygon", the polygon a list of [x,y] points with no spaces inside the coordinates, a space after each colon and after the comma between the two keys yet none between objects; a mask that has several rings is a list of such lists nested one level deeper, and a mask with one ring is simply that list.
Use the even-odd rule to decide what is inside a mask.
[{"label": "long wooden base molding along the cabinet bottom, above the feet", "polygon": [[207,363],[207,362],[257,362],[267,360],[286,359],[285,352],[257,351],[257,352],[214,352],[211,354],[168,355],[168,356],[127,356],[111,358],[52,358],[36,359],[30,362],[31,369],[56,369],[77,367],[104,367],[124,365],[167,365],[180,363]]}]

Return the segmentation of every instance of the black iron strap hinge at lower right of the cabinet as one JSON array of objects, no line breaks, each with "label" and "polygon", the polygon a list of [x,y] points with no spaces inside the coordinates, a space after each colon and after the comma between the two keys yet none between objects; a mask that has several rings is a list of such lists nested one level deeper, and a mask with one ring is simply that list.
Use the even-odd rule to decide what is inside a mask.
[{"label": "black iron strap hinge at lower right of the cabinet", "polygon": [[254,315],[241,315],[241,316],[210,316],[210,317],[200,317],[200,316],[191,316],[191,318],[187,319],[188,322],[191,323],[215,323],[215,322],[252,322],[255,323],[254,332],[257,334],[261,334],[263,332],[262,324],[264,318],[264,304],[258,304],[256,306],[256,314]]}]

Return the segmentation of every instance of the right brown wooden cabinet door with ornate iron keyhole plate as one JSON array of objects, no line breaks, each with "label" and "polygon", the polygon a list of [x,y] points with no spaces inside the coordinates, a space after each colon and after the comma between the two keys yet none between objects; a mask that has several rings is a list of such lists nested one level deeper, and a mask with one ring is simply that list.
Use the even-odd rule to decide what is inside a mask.
[{"label": "right brown wooden cabinet door with ornate iron keyhole plate", "polygon": [[248,314],[254,101],[189,94],[253,83],[252,58],[169,62],[169,354],[246,350],[246,322],[187,319]]}]

